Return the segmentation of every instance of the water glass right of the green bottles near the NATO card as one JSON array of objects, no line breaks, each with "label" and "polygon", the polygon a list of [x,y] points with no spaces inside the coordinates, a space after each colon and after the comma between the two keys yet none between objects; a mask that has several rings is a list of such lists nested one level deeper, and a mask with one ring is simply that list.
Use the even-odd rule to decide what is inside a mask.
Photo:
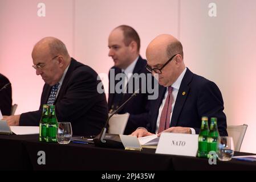
[{"label": "water glass right of the green bottles near the NATO card", "polygon": [[229,161],[234,155],[234,142],[232,137],[218,137],[217,157],[221,161]]}]

